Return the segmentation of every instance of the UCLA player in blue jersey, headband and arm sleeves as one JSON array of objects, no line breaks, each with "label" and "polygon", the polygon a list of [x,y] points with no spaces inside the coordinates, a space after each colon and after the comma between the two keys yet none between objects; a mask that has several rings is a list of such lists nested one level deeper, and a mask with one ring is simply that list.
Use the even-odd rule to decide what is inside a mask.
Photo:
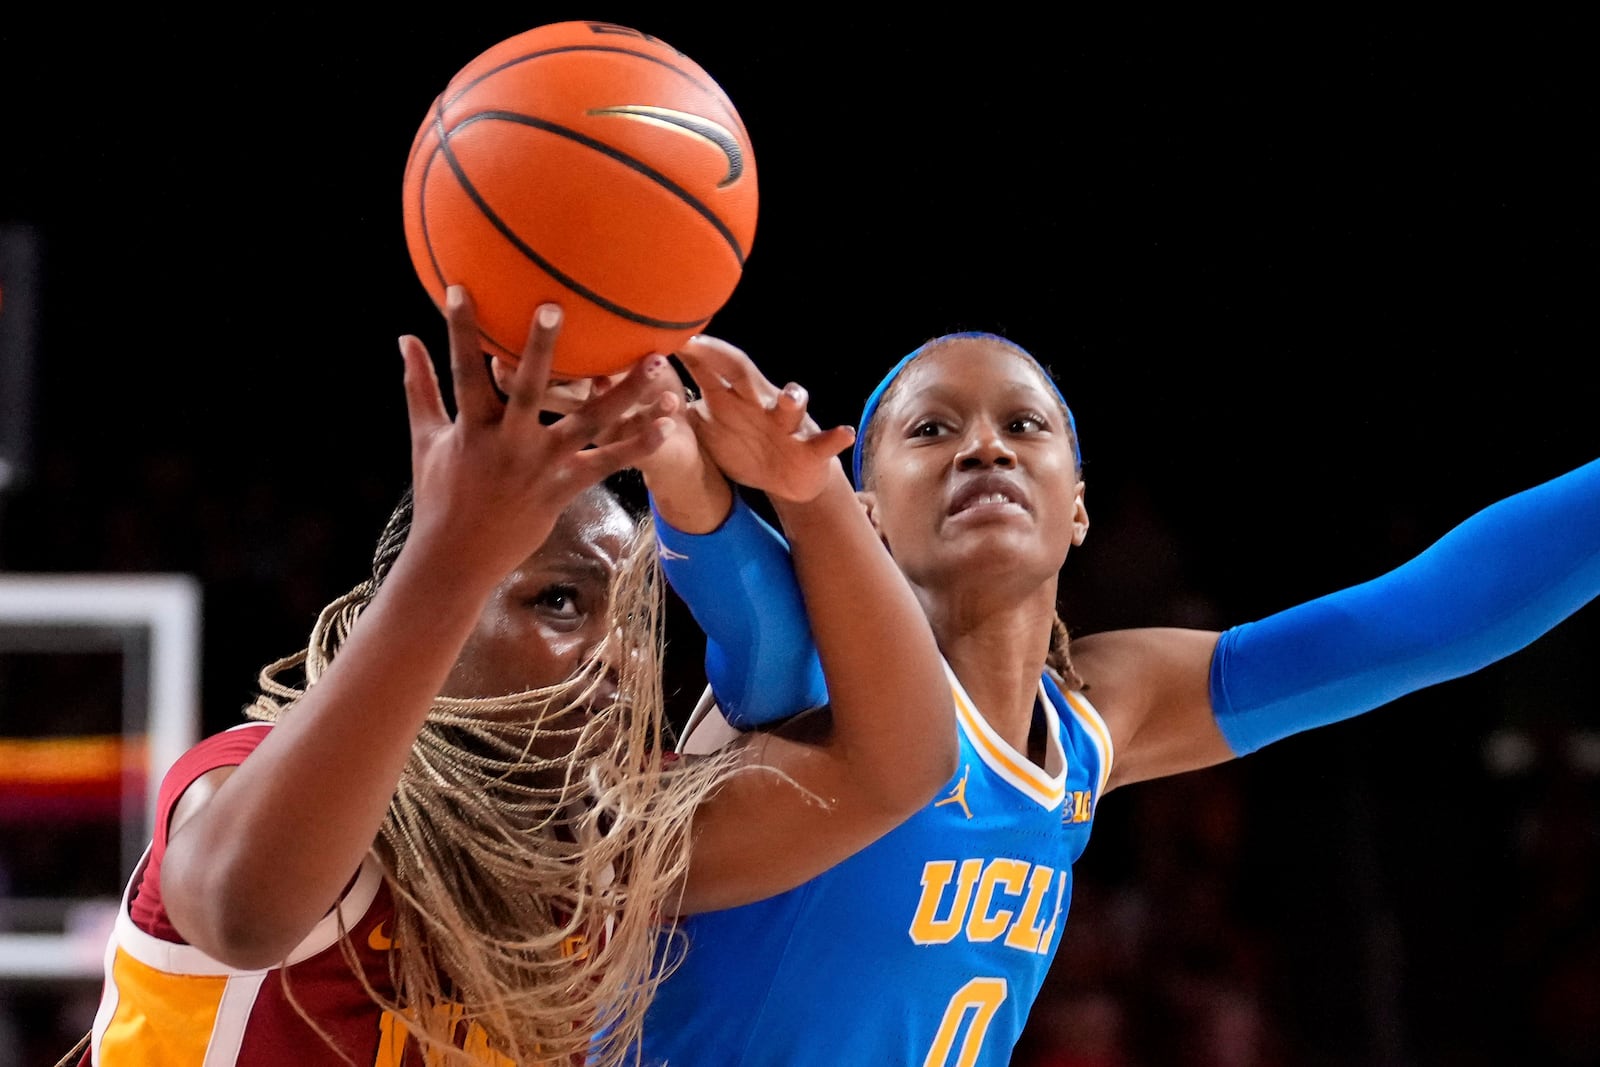
[{"label": "UCLA player in blue jersey, headband and arm sleeves", "polygon": [[[746,448],[736,427],[752,403],[778,410],[782,395],[715,339],[693,341],[685,363],[706,389],[690,408],[701,443],[733,482],[765,488],[763,464],[782,459]],[[1085,635],[1069,656],[1058,576],[1090,528],[1075,424],[1050,373],[992,334],[938,338],[901,360],[862,410],[853,469],[938,640],[957,713],[930,701],[926,729],[954,729],[954,773],[894,829],[755,902],[718,902],[726,857],[696,853],[698,891],[675,926],[682,965],[645,1024],[653,1067],[1006,1064],[1069,936],[1072,864],[1106,793],[1478,670],[1600,592],[1594,461],[1373,581],[1221,633]],[[741,673],[750,656],[707,662],[717,702],[698,709],[683,750],[803,765],[792,749],[835,726],[782,539],[738,499],[709,533],[658,523],[658,537],[710,637],[762,646],[768,664],[770,635],[790,641],[784,678],[797,693],[773,704],[816,707],[757,721],[746,709],[762,678]],[[843,840],[859,813],[821,792],[808,814],[810,827],[766,846],[789,870],[813,832]]]}]

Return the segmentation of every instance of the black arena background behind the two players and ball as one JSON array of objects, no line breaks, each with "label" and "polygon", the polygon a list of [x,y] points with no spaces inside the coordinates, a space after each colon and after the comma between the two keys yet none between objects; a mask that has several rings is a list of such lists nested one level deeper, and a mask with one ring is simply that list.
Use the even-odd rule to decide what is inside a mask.
[{"label": "black arena background behind the two players and ball", "polygon": [[[926,11],[0,29],[0,226],[40,250],[0,566],[198,576],[205,725],[235,721],[406,480],[395,338],[443,350],[411,136],[563,18],[656,34],[738,104],[762,216],[712,331],[819,421],[949,330],[1056,370],[1094,525],[1075,632],[1258,617],[1600,453],[1578,16]],[[1018,1062],[1600,1062],[1597,627],[1117,795]]]}]

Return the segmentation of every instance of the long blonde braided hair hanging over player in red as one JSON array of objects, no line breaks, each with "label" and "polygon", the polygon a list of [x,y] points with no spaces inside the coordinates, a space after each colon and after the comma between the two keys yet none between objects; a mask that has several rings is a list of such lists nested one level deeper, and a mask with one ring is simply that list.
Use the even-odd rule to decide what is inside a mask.
[{"label": "long blonde braided hair hanging over player in red", "polygon": [[[376,595],[410,518],[406,494],[373,576],[323,609],[304,651],[262,669],[250,718],[293,713]],[[392,1000],[342,937],[368,995],[430,1064],[637,1057],[643,1009],[670,966],[659,920],[688,867],[690,822],[731,769],[731,757],[664,757],[662,614],[646,515],[613,584],[626,643],[616,701],[589,704],[606,670],[598,656],[554,686],[435,699],[373,846],[395,901]],[[285,681],[294,672],[299,686]],[[550,737],[571,752],[536,755]]]}]

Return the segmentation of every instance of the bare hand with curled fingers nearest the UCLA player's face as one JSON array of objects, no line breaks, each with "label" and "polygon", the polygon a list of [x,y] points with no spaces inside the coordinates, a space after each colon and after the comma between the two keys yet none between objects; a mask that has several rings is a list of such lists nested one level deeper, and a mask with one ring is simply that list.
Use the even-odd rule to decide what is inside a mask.
[{"label": "bare hand with curled fingers nearest the UCLA player's face", "polygon": [[786,501],[822,491],[838,453],[854,443],[854,429],[819,429],[805,389],[794,382],[778,389],[726,341],[691,338],[677,355],[701,392],[688,406],[690,422],[728,478]]}]

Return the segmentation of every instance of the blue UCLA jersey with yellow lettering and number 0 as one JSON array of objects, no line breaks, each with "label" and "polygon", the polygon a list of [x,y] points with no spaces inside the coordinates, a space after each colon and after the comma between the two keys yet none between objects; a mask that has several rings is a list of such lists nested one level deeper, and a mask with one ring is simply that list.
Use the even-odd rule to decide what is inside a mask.
[{"label": "blue UCLA jersey with yellow lettering and number 0", "polygon": [[1010,1062],[1066,929],[1110,736],[1082,694],[1042,678],[1040,768],[950,685],[962,761],[946,789],[789,893],[685,918],[645,1064]]}]

